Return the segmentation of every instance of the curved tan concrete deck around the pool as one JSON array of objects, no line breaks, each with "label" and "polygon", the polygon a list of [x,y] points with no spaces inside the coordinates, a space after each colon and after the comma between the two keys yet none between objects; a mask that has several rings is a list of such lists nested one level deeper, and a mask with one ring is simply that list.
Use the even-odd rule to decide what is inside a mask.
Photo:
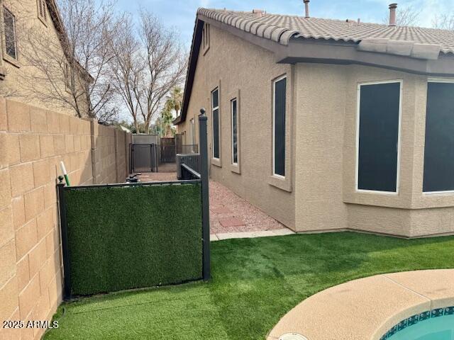
[{"label": "curved tan concrete deck around the pool", "polygon": [[454,306],[453,282],[454,269],[353,280],[301,302],[282,317],[267,340],[289,333],[307,340],[378,340],[408,317]]}]

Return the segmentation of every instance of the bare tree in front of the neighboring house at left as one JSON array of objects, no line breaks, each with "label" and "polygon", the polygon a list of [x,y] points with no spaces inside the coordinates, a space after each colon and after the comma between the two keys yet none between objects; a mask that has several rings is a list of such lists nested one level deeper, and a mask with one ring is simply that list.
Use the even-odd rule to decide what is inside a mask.
[{"label": "bare tree in front of the neighboring house at left", "polygon": [[26,62],[38,70],[24,76],[31,96],[70,107],[79,117],[112,120],[118,111],[108,73],[113,57],[108,41],[119,27],[115,3],[59,0],[59,5],[65,27],[60,39],[45,28],[29,29],[23,39]]}]

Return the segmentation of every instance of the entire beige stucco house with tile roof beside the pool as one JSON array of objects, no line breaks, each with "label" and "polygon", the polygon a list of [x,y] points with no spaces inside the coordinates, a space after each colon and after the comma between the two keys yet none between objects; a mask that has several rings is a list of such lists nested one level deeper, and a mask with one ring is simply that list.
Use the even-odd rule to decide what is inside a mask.
[{"label": "entire beige stucco house with tile roof beside the pool", "polygon": [[199,9],[175,124],[198,140],[206,108],[211,178],[298,232],[453,233],[454,33],[395,8],[389,26]]}]

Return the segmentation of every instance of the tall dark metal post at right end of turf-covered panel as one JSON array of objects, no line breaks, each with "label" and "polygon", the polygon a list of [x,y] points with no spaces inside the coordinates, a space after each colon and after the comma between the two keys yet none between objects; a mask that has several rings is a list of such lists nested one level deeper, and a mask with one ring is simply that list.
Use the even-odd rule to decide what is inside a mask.
[{"label": "tall dark metal post at right end of turf-covered panel", "polygon": [[208,178],[208,136],[206,132],[205,109],[200,109],[199,143],[200,143],[200,175],[201,175],[201,224],[203,239],[203,277],[211,277],[210,265],[210,210],[209,210],[209,178]]}]

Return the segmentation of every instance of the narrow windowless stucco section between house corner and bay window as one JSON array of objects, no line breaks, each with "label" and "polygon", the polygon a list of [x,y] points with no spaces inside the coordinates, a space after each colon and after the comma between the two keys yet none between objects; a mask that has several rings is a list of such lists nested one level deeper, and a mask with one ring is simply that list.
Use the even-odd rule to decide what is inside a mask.
[{"label": "narrow windowless stucco section between house corner and bay window", "polygon": [[295,195],[298,231],[344,229],[345,79],[336,65],[297,64]]}]

